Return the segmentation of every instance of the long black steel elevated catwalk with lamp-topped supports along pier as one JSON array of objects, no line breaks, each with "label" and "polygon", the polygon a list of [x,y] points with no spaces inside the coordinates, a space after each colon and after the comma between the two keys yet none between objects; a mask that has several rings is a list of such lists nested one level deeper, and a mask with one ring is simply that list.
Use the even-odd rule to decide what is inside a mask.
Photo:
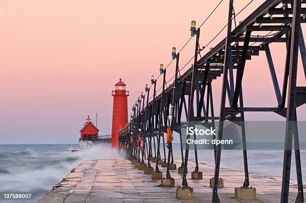
[{"label": "long black steel elevated catwalk with lamp-topped supports along pier", "polygon": [[[145,94],[142,94],[140,99],[138,98],[137,102],[133,105],[130,122],[118,132],[119,150],[126,157],[132,156],[139,162],[145,163],[146,167],[151,167],[151,160],[155,158],[155,172],[159,171],[158,160],[163,159],[163,162],[167,162],[166,178],[170,178],[169,165],[173,163],[172,147],[171,142],[165,144],[163,138],[167,128],[170,127],[172,132],[175,131],[179,134],[181,152],[180,168],[183,168],[181,186],[182,188],[188,188],[186,173],[189,145],[186,144],[185,150],[183,150],[182,144],[185,143],[185,140],[182,140],[180,129],[180,123],[183,117],[186,118],[187,123],[195,120],[205,121],[207,126],[214,126],[215,121],[219,121],[217,137],[213,137],[217,139],[222,139],[223,121],[228,120],[235,123],[239,121],[244,167],[244,181],[241,182],[241,186],[248,188],[250,182],[248,179],[244,112],[274,112],[286,120],[281,202],[288,201],[292,141],[294,142],[295,149],[298,186],[296,202],[303,202],[304,197],[296,121],[298,107],[306,102],[306,85],[296,86],[296,78],[299,49],[302,61],[301,67],[304,73],[303,76],[306,79],[306,50],[301,26],[301,23],[306,22],[305,5],[305,1],[301,0],[265,0],[232,30],[232,20],[235,20],[235,13],[233,12],[233,0],[229,0],[226,37],[198,58],[203,48],[200,48],[199,45],[200,28],[196,29],[194,33],[196,40],[193,65],[180,75],[182,68],[179,69],[179,53],[177,53],[175,57],[175,75],[171,84],[166,83],[166,68],[161,68],[161,92],[156,95],[157,80],[152,79],[152,85],[150,87],[146,86]],[[260,34],[260,32],[267,31],[267,34]],[[283,58],[285,65],[282,69],[282,89],[279,87],[279,78],[276,76],[270,53],[269,46],[272,43],[286,44],[286,48],[283,50],[286,56]],[[276,104],[275,106],[268,107],[245,107],[243,106],[242,92],[251,91],[249,89],[242,90],[241,85],[244,72],[248,71],[245,68],[246,60],[251,60],[258,56],[259,52],[264,52],[266,55],[272,82],[266,80],[258,82],[266,85],[273,84],[274,91],[271,94],[275,95]],[[262,71],[262,69],[257,69],[258,74],[265,74],[265,71]],[[212,83],[217,81],[217,78],[222,80],[222,85],[221,89],[219,89],[221,93],[220,106],[218,106],[219,113],[215,115],[213,101],[214,99],[218,99],[218,97],[212,92]],[[256,85],[256,82],[252,81],[252,83]],[[150,95],[150,92],[152,95]],[[258,99],[264,98],[259,97]],[[187,135],[187,138],[190,138],[190,135]],[[160,143],[160,139],[162,139],[162,143]],[[162,148],[160,144],[162,144]],[[166,150],[165,145],[168,150]],[[220,202],[217,190],[222,152],[221,144],[214,146],[213,150],[215,171],[212,202]],[[194,145],[194,156],[196,165],[194,171],[197,172],[199,168],[196,145]]]}]

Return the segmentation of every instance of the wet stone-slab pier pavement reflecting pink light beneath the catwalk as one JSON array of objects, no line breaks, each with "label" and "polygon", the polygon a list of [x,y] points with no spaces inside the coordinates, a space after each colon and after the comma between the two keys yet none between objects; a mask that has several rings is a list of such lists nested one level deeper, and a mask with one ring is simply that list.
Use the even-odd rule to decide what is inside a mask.
[{"label": "wet stone-slab pier pavement reflecting pink light beneath the catwalk", "polygon": [[[154,164],[154,163],[153,163]],[[153,165],[152,164],[152,165]],[[180,161],[176,160],[177,167]],[[176,186],[181,185],[181,174],[171,170],[175,179],[175,187],[160,187],[160,180],[151,180],[150,175],[134,167],[130,160],[98,159],[85,160],[74,172],[69,173],[53,189],[38,199],[37,203],[45,202],[211,202],[209,178],[213,176],[214,166],[199,161],[203,172],[202,180],[191,179],[194,161],[188,161],[188,184],[193,187],[192,200],[175,198]],[[159,165],[165,176],[165,168]],[[220,168],[220,177],[224,178],[224,188],[218,189],[221,202],[279,202],[281,177],[249,173],[250,185],[256,187],[255,199],[234,199],[234,187],[240,186],[244,180],[244,172],[230,168]],[[305,185],[305,184],[304,184]],[[290,187],[289,202],[294,202],[296,182]]]}]

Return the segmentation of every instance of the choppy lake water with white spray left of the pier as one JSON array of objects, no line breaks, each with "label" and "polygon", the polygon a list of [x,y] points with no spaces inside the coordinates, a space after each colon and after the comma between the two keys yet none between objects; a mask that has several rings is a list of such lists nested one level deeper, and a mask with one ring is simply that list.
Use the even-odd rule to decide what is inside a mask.
[{"label": "choppy lake water with white spray left of the pier", "polygon": [[[82,160],[120,158],[116,150],[105,148],[77,152],[66,150],[77,148],[78,144],[0,144],[0,194],[32,193],[36,200]],[[2,201],[8,203],[34,200]]]}]

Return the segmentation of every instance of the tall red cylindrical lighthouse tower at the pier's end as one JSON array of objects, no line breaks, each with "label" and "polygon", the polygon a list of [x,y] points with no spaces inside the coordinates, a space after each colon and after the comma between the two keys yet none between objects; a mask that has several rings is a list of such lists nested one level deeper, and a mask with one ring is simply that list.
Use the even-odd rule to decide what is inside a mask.
[{"label": "tall red cylindrical lighthouse tower at the pier's end", "polygon": [[119,81],[115,84],[115,90],[111,91],[113,96],[112,126],[111,126],[111,147],[118,147],[118,130],[127,124],[127,96],[126,84]]}]

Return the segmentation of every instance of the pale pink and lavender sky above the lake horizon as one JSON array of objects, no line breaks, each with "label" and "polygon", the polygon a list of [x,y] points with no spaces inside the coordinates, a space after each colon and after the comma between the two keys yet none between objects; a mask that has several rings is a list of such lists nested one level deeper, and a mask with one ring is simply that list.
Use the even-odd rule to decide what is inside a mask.
[{"label": "pale pink and lavender sky above the lake horizon", "polygon": [[[98,128],[102,134],[110,133],[114,83],[119,77],[125,80],[131,106],[150,75],[158,75],[159,63],[170,61],[171,47],[179,49],[189,38],[190,21],[194,19],[199,25],[218,2],[1,1],[1,143],[76,143],[87,114],[95,119],[96,112]],[[262,2],[252,2],[237,21]],[[235,0],[234,4],[237,12],[246,1]],[[224,0],[201,27],[200,45],[224,26],[227,7],[228,0]],[[222,32],[211,46],[224,36]],[[193,48],[194,39],[181,52],[180,66],[192,56]],[[284,50],[284,44],[271,46],[280,88]],[[264,52],[248,61],[246,68],[244,105],[276,106]],[[173,70],[174,62],[168,68],[167,78]],[[298,85],[305,82],[301,73],[299,67]],[[220,82],[219,79],[213,86],[216,112]],[[300,112],[305,112],[301,108]],[[250,118],[259,119],[256,115]],[[272,114],[267,118],[279,116]]]}]

